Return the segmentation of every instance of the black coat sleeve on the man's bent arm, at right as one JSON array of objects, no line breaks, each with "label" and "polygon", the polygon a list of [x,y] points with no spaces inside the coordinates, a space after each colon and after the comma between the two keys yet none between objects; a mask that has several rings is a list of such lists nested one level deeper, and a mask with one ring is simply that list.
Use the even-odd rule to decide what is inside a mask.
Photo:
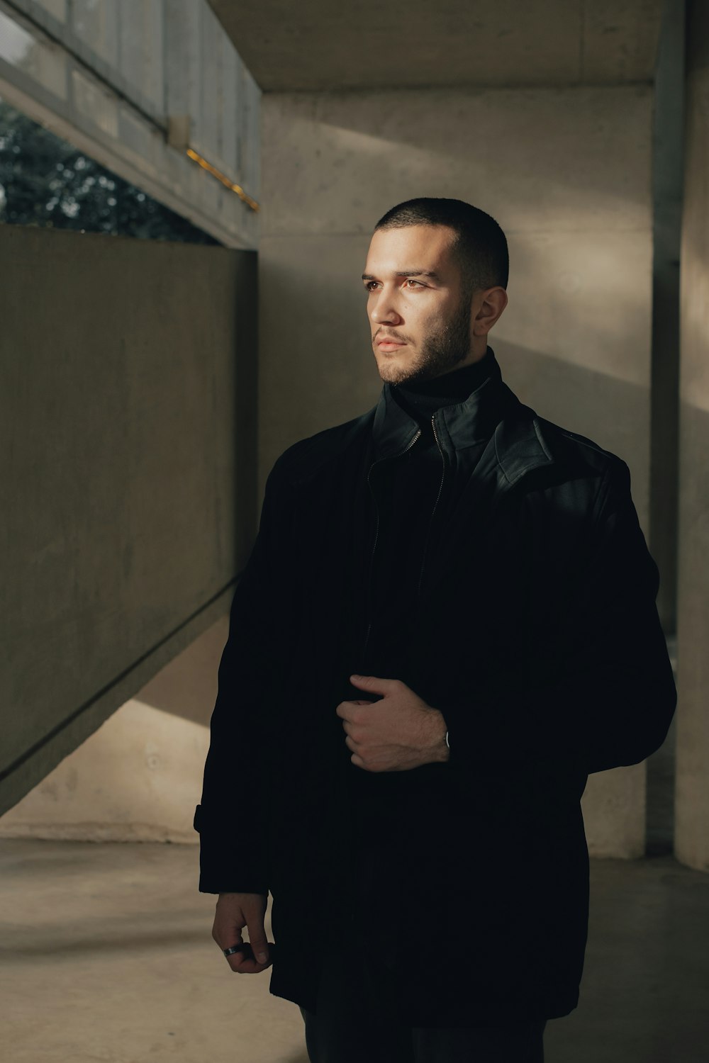
[{"label": "black coat sleeve on the man's bent arm, at right", "polygon": [[530,681],[529,668],[526,680],[521,670],[482,699],[471,691],[436,705],[452,766],[563,758],[590,774],[640,763],[664,741],[677,691],[656,606],[659,571],[621,459],[598,499],[589,563],[543,681]]}]

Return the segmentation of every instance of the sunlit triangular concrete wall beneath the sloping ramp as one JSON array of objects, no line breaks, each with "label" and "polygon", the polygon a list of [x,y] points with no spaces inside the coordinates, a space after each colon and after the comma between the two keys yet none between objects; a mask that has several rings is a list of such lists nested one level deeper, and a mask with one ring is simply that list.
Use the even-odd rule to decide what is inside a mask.
[{"label": "sunlit triangular concrete wall beneath the sloping ramp", "polygon": [[197,844],[221,617],[117,709],[14,808],[0,838]]}]

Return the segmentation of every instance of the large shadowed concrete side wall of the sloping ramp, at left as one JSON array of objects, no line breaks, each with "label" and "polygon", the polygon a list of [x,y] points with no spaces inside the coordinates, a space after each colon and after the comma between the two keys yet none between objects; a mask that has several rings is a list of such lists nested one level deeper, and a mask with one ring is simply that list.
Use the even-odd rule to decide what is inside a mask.
[{"label": "large shadowed concrete side wall of the sloping ramp, at left", "polygon": [[0,226],[0,812],[229,610],[255,257]]}]

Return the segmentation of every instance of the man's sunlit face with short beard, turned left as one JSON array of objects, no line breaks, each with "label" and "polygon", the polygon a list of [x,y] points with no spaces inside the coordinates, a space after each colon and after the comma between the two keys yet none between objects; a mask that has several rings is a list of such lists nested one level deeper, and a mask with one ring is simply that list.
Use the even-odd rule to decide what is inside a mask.
[{"label": "man's sunlit face with short beard, turned left", "polygon": [[475,343],[471,331],[473,300],[462,291],[454,239],[446,225],[381,229],[372,236],[362,283],[383,381],[432,379],[485,354],[487,340]]}]

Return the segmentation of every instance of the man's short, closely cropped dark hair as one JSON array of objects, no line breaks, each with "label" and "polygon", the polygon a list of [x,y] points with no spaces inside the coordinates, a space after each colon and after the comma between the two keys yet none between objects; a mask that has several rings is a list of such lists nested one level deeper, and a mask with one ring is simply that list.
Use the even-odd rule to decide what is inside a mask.
[{"label": "man's short, closely cropped dark hair", "polygon": [[502,229],[485,210],[462,200],[423,196],[392,206],[379,218],[377,229],[405,225],[448,225],[455,231],[454,251],[468,294],[486,288],[507,288],[509,253]]}]

